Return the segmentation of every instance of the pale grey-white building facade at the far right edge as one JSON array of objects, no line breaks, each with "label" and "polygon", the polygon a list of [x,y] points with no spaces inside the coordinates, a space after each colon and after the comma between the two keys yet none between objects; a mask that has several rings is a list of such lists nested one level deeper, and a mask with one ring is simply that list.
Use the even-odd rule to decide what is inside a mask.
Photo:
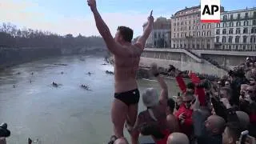
[{"label": "pale grey-white building facade at the far right edge", "polygon": [[256,7],[221,13],[214,33],[218,50],[256,50]]}]

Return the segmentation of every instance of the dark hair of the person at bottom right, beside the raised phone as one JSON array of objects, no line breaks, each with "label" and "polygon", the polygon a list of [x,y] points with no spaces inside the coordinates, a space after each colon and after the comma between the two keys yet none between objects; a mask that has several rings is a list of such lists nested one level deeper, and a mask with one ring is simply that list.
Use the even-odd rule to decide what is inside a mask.
[{"label": "dark hair of the person at bottom right, beside the raised phone", "polygon": [[239,122],[227,122],[226,129],[229,137],[232,137],[234,142],[238,141],[240,134],[244,130]]}]

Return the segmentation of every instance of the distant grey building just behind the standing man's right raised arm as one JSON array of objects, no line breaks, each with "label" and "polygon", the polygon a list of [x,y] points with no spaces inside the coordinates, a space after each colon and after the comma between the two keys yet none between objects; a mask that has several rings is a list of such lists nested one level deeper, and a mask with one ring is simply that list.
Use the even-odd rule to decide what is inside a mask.
[{"label": "distant grey building just behind the standing man's right raised arm", "polygon": [[[164,48],[170,47],[170,19],[157,18],[153,25],[153,30],[150,33],[149,38],[146,40],[146,47]],[[145,23],[143,30],[146,28]]]}]

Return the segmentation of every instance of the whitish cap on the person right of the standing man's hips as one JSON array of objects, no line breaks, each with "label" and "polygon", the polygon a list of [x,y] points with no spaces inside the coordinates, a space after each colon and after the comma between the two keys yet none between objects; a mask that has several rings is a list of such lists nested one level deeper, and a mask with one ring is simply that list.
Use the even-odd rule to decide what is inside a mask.
[{"label": "whitish cap on the person right of the standing man's hips", "polygon": [[154,88],[147,88],[142,94],[142,102],[146,107],[158,105],[158,92]]}]

